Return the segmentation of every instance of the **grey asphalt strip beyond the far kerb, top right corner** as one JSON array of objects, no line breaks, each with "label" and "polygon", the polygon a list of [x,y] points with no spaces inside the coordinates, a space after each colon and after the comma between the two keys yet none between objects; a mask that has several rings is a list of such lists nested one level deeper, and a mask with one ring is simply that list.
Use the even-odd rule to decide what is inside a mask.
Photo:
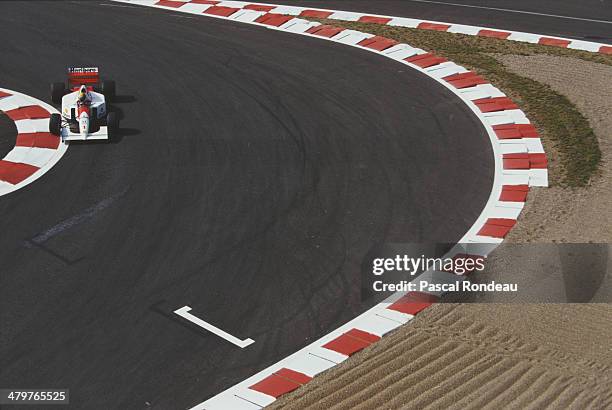
[{"label": "grey asphalt strip beyond the far kerb, top right corner", "polygon": [[288,0],[285,2],[267,0],[264,2],[470,24],[603,43],[612,42],[612,7],[608,0]]}]

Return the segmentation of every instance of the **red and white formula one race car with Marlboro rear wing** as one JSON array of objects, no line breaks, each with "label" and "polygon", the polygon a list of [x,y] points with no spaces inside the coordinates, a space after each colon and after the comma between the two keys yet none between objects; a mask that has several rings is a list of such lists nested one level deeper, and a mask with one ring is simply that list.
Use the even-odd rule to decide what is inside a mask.
[{"label": "red and white formula one race car with Marlboro rear wing", "polygon": [[119,127],[119,118],[108,112],[115,97],[115,82],[100,81],[98,68],[68,69],[64,83],[51,84],[51,100],[62,104],[61,115],[51,114],[49,132],[62,141],[108,140]]}]

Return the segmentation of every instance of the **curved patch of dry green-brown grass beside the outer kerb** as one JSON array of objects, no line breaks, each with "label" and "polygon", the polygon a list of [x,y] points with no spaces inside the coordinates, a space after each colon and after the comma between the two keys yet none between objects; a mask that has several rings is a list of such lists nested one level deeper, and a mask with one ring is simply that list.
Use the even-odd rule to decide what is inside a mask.
[{"label": "curved patch of dry green-brown grass beside the outer kerb", "polygon": [[310,20],[407,43],[446,57],[485,77],[525,111],[540,131],[547,154],[558,156],[558,161],[549,162],[551,184],[586,186],[598,172],[601,151],[597,138],[588,120],[574,104],[548,85],[509,71],[495,55],[547,54],[612,66],[611,55],[432,30],[339,20]]}]

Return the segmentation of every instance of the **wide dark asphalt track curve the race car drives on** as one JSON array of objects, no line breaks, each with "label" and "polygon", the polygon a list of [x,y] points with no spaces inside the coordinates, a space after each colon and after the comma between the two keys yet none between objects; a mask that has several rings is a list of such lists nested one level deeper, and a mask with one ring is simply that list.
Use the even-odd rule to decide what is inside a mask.
[{"label": "wide dark asphalt track curve the race car drives on", "polygon": [[489,195],[471,111],[368,52],[93,1],[1,2],[0,37],[1,86],[96,65],[123,118],[0,198],[3,388],[195,405],[363,311],[369,249],[456,241]]}]

